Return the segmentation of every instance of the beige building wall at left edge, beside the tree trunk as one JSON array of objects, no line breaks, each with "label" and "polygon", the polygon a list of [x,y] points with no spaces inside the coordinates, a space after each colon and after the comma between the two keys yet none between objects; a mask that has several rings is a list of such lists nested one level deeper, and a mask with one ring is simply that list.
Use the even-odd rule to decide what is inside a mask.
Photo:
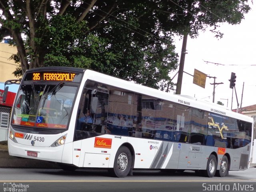
[{"label": "beige building wall at left edge, beside the tree trunk", "polygon": [[9,46],[8,43],[0,43],[0,82],[10,79],[17,79],[12,72],[16,70],[16,63],[10,60],[12,54],[17,53],[17,48]]}]

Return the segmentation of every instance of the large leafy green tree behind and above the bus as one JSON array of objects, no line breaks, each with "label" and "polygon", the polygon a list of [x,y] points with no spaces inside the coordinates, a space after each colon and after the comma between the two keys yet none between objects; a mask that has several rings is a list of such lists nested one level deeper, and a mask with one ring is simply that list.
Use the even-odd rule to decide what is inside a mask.
[{"label": "large leafy green tree behind and above the bus", "polygon": [[17,46],[17,75],[76,66],[163,90],[173,87],[168,74],[178,67],[173,35],[196,36],[206,26],[220,35],[218,23],[238,23],[249,9],[246,2],[0,0],[0,34]]}]

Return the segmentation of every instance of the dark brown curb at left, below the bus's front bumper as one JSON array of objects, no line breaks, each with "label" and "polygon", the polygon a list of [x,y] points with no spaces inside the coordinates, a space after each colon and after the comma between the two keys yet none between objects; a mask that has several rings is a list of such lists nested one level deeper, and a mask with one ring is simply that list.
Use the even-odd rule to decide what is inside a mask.
[{"label": "dark brown curb at left, below the bus's front bumper", "polygon": [[0,168],[60,169],[54,162],[10,156],[7,150],[0,150]]}]

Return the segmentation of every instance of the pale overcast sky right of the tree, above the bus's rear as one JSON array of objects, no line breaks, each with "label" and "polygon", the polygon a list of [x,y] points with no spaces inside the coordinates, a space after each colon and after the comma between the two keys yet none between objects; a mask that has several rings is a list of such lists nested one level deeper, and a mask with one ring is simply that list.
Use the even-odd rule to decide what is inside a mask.
[{"label": "pale overcast sky right of the tree, above the bus's rear", "polygon": [[[201,32],[195,39],[188,38],[186,46],[186,57],[184,72],[194,74],[194,69],[216,77],[214,103],[222,102],[228,109],[237,108],[235,91],[232,102],[232,89],[228,81],[231,72],[236,74],[236,92],[239,107],[256,104],[256,5],[251,5],[251,10],[245,15],[244,20],[238,25],[221,24],[219,30],[224,33],[221,39],[214,37],[210,31]],[[182,39],[176,39],[176,52],[180,56]],[[223,65],[206,63],[213,62]],[[178,69],[171,73],[171,78],[178,72]],[[178,75],[174,82],[177,82]],[[213,101],[213,78],[206,78],[205,88],[193,84],[193,77],[183,73],[182,95],[189,95],[198,99]],[[242,97],[242,90],[244,91]],[[232,105],[231,105],[232,104]]]}]

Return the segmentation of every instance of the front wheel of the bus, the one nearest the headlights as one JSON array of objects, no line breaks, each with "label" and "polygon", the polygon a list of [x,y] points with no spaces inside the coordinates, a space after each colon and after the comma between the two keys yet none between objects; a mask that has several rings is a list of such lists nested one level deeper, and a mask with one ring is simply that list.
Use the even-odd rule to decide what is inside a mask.
[{"label": "front wheel of the bus, the one nearest the headlights", "polygon": [[126,146],[121,146],[116,152],[114,167],[110,173],[116,177],[126,177],[132,168],[132,154]]}]

